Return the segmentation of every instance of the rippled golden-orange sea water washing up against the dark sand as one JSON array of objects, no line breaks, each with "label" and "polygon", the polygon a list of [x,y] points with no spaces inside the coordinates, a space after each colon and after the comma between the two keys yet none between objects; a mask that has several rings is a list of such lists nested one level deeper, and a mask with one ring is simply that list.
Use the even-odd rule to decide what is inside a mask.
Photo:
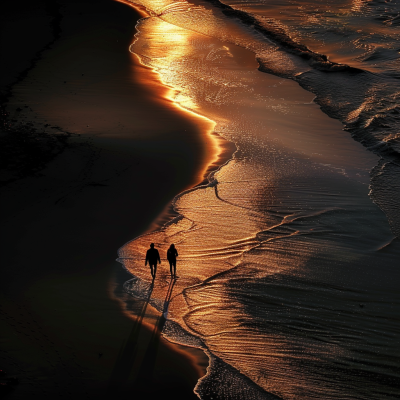
[{"label": "rippled golden-orange sea water washing up against the dark sand", "polygon": [[127,290],[154,242],[152,302],[209,354],[203,399],[398,398],[397,3],[135,4],[131,51],[237,151],[119,250]]}]

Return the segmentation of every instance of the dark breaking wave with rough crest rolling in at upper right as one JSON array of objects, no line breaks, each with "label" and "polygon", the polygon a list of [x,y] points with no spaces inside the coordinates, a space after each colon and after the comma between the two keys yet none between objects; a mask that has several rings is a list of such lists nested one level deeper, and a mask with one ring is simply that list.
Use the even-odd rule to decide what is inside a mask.
[{"label": "dark breaking wave with rough crest rolling in at upper right", "polygon": [[[398,68],[391,67],[387,72],[376,74],[359,67],[329,61],[327,55],[313,52],[307,46],[293,40],[285,26],[277,24],[273,19],[235,9],[219,0],[207,1],[221,8],[224,15],[237,18],[261,33],[275,46],[307,61],[307,65],[312,68],[308,71],[302,68],[293,69],[295,65],[293,63],[287,64],[290,69],[283,68],[281,62],[276,62],[275,54],[271,57],[267,51],[268,54],[265,56],[263,51],[260,51],[256,53],[260,71],[294,79],[303,88],[314,93],[321,109],[330,117],[339,119],[344,128],[369,150],[382,157],[393,157],[399,153],[400,148],[397,143],[393,143],[390,139],[390,136],[397,133],[400,128],[400,118],[397,118],[400,93],[400,84],[397,80]],[[385,12],[390,14],[395,11],[390,9]],[[367,63],[380,61],[387,65],[388,62],[398,58],[396,48],[376,46],[363,60]],[[335,77],[324,74],[327,72],[335,73]],[[361,108],[364,112],[358,113],[358,126],[356,127],[354,123],[348,124],[351,115]],[[385,146],[379,145],[382,141],[386,142]]]}]

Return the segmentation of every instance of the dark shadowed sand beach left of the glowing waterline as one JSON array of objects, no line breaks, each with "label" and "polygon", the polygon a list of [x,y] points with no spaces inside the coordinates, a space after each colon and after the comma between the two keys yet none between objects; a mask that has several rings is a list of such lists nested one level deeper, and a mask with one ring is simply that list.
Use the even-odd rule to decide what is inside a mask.
[{"label": "dark shadowed sand beach left of the glowing waterline", "polygon": [[[34,176],[1,188],[0,369],[20,383],[0,395],[197,398],[193,388],[206,356],[153,331],[154,310],[137,323],[143,302],[122,292],[130,275],[115,258],[120,246],[154,226],[177,193],[198,183],[209,162],[207,141],[199,121],[178,113],[168,90],[127,52],[138,18],[132,8],[111,0],[58,4],[21,1],[3,13],[13,23],[3,24],[12,73],[2,90],[19,80],[9,102],[15,125],[70,121],[62,128],[81,136],[69,138]],[[63,82],[76,81],[83,69],[91,71],[90,88],[69,98]],[[153,86],[143,88],[133,74],[153,79]],[[121,131],[113,121],[117,110]]]}]

